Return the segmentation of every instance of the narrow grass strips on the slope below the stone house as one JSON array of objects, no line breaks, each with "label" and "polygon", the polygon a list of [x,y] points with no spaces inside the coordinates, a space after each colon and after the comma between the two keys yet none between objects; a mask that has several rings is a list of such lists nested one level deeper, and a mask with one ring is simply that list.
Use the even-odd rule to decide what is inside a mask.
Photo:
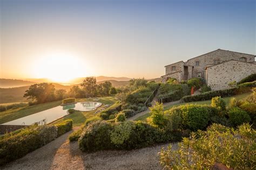
[{"label": "narrow grass strips on the slope below the stone house", "polygon": [[[245,98],[247,97],[248,95],[250,95],[251,93],[245,93],[245,94],[241,94],[241,95],[235,95],[235,96],[230,96],[230,97],[224,97],[224,101],[226,102],[226,104],[228,105],[230,103],[230,99],[232,97],[236,98],[237,100],[240,100],[242,98]],[[164,110],[169,110],[171,109],[172,107],[174,106],[179,106],[179,105],[184,105],[184,104],[208,104],[210,105],[211,104],[211,100],[207,100],[207,101],[198,101],[198,102],[190,102],[190,103],[178,103],[178,104],[173,104],[173,105],[169,105],[169,106],[166,106],[164,107]],[[135,121],[146,121],[146,118],[147,117],[150,117],[151,116],[151,113],[147,113],[143,116],[140,116],[138,117],[137,119],[135,119]]]}]

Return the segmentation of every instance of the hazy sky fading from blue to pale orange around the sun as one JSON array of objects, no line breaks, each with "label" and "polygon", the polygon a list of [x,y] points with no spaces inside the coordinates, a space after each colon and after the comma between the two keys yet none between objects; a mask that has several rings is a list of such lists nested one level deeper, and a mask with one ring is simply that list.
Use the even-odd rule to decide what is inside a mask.
[{"label": "hazy sky fading from blue to pale orange around the sun", "polygon": [[218,48],[256,54],[255,1],[0,2],[4,78],[153,78]]}]

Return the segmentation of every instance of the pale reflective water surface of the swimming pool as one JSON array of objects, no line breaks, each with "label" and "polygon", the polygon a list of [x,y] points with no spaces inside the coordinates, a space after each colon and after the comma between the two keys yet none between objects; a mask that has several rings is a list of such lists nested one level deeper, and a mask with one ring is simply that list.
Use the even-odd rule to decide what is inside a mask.
[{"label": "pale reflective water surface of the swimming pool", "polygon": [[[51,108],[48,110],[44,110],[41,112],[38,112],[36,114],[32,114],[29,116],[25,116],[19,119],[16,119],[14,121],[6,122],[3,125],[31,125],[34,123],[38,124],[48,124],[53,121],[56,121],[59,118],[62,118],[63,116],[68,115],[69,109],[75,109],[80,111],[92,111],[96,110],[98,107],[100,107],[102,103],[99,102],[79,102],[76,104],[69,104],[65,106],[58,106],[55,108]],[[45,120],[45,121],[43,121]]]}]

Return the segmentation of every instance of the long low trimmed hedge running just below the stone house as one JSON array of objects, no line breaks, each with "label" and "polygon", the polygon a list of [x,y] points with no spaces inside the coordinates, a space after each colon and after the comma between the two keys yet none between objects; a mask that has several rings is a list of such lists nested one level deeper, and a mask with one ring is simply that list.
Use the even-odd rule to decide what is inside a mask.
[{"label": "long low trimmed hedge running just below the stone house", "polygon": [[187,102],[196,102],[196,101],[206,101],[211,100],[212,97],[227,97],[227,96],[233,96],[240,93],[246,93],[251,91],[250,88],[244,88],[244,87],[235,87],[231,89],[224,89],[224,90],[216,90],[216,91],[208,91],[206,93],[193,95],[193,96],[184,96],[181,98],[181,102],[187,103]]}]

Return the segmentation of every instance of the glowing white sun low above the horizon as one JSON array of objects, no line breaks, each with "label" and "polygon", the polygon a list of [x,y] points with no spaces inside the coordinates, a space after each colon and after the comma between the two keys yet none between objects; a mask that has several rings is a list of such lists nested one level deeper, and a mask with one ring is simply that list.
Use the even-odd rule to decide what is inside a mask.
[{"label": "glowing white sun low above the horizon", "polygon": [[44,55],[33,66],[33,73],[37,78],[48,78],[54,82],[69,82],[85,75],[87,68],[85,62],[66,53]]}]

